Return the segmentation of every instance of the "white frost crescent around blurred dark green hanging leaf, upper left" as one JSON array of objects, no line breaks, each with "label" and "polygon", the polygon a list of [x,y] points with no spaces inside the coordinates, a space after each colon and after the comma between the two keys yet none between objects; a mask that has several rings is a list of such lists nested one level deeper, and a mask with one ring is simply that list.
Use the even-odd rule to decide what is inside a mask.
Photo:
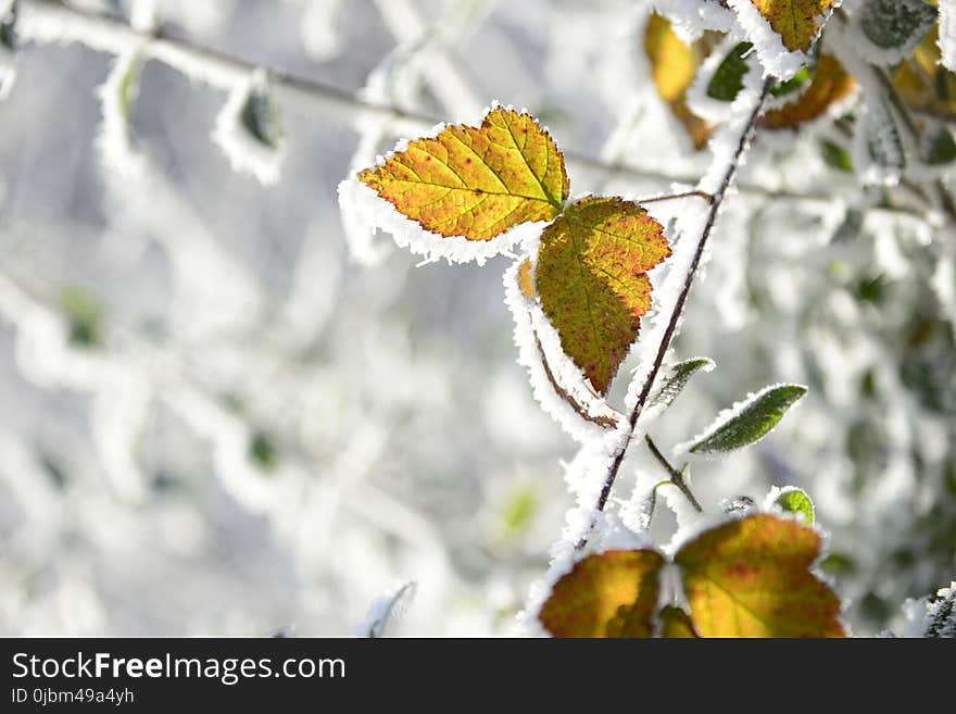
[{"label": "white frost crescent around blurred dark green hanging leaf, upper left", "polygon": [[285,155],[285,140],[273,148],[252,136],[242,122],[247,102],[255,96],[268,96],[268,78],[256,70],[229,90],[222,111],[216,116],[212,139],[225,152],[232,171],[254,176],[263,186],[279,180],[279,170]]}]

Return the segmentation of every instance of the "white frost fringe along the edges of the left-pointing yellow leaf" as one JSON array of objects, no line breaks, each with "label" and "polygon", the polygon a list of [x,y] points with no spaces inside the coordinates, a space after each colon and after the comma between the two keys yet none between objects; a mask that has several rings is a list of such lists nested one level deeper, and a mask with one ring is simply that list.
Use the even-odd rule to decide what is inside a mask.
[{"label": "white frost fringe along the edges of the left-pointing yellow leaf", "polygon": [[[498,102],[492,102],[482,113],[482,117],[498,107]],[[480,122],[478,124],[480,125]],[[431,131],[422,135],[420,138],[433,138],[444,128],[445,124],[437,124]],[[548,131],[545,127],[542,129]],[[383,165],[395,153],[405,151],[407,147],[407,139],[400,140],[388,154],[378,156],[376,164]],[[512,249],[517,243],[536,240],[549,223],[546,221],[519,223],[491,240],[468,240],[464,236],[440,236],[426,230],[422,224],[403,215],[375,189],[354,176],[342,180],[338,192],[339,206],[342,209],[343,222],[349,226],[349,230],[374,235],[378,228],[381,228],[392,235],[400,248],[407,248],[413,253],[424,255],[423,263],[433,263],[444,259],[450,264],[475,261],[478,265],[485,265],[489,258],[495,255],[513,256]]]}]

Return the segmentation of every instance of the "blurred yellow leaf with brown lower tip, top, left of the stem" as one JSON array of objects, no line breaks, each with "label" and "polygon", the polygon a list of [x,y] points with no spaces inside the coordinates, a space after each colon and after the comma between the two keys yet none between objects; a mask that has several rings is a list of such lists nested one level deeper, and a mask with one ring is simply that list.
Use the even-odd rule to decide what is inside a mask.
[{"label": "blurred yellow leaf with brown lower tip, top, left of the stem", "polygon": [[693,83],[709,46],[706,36],[688,45],[677,36],[670,22],[656,13],[647,21],[644,52],[651,62],[657,93],[670,107],[675,117],[683,124],[696,149],[706,146],[710,127],[688,107],[687,90]]}]

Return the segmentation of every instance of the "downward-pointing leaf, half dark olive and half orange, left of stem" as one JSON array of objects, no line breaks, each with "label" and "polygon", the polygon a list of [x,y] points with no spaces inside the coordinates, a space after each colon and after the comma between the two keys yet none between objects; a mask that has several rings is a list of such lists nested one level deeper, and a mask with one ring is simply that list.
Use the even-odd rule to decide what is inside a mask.
[{"label": "downward-pointing leaf, half dark olive and half orange, left of stem", "polygon": [[619,198],[584,198],[541,235],[534,281],[541,308],[562,349],[601,394],[651,306],[646,272],[668,255],[661,224]]}]

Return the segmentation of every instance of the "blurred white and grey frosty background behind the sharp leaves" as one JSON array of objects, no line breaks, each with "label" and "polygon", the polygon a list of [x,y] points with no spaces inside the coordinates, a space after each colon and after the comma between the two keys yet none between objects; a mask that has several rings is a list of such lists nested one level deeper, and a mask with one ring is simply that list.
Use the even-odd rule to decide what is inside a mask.
[{"label": "blurred white and grey frosty background behind the sharp leaves", "polygon": [[[510,262],[416,267],[343,226],[336,186],[494,99],[549,126],[574,193],[700,176],[644,4],[22,0],[0,103],[0,634],[348,635],[406,580],[397,632],[511,632],[576,447],[515,361]],[[172,42],[143,49],[130,23]],[[262,146],[237,111],[256,67],[281,71]],[[808,490],[855,630],[879,631],[956,574],[953,227],[873,208],[787,138],[757,143],[731,204],[677,346],[717,371],[655,438],[808,384],[695,487],[713,509]]]}]

